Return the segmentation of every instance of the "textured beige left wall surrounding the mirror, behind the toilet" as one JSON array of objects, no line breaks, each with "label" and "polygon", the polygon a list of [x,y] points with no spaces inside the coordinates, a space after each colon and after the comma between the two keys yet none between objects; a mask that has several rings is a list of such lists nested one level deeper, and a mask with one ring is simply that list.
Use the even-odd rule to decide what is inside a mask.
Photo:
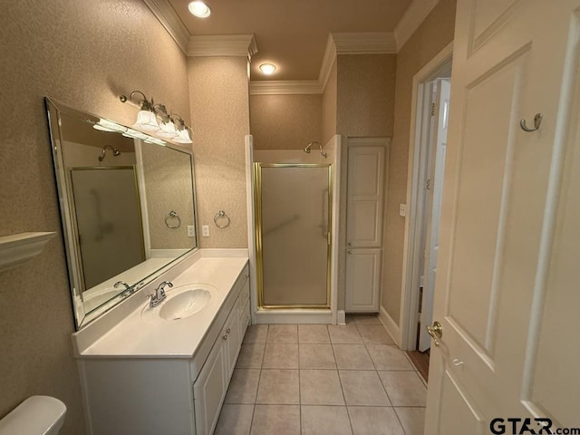
[{"label": "textured beige left wall surrounding the mirror, behind the toilet", "polygon": [[[43,96],[123,123],[140,89],[189,119],[185,56],[140,0],[3,2],[0,14],[0,236],[56,231],[33,261],[0,273],[0,417],[32,394],[66,403],[63,435],[84,433],[73,311]],[[170,65],[170,66],[169,66]]]}]

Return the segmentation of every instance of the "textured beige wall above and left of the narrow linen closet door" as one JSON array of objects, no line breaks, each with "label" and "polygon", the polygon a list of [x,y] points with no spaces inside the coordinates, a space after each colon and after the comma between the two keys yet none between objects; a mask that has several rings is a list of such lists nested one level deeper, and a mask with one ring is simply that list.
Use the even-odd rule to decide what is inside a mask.
[{"label": "textured beige wall above and left of the narrow linen closet door", "polygon": [[[394,112],[395,54],[337,56],[336,131],[343,135],[339,223],[339,270],[346,269],[347,138],[391,137]],[[344,308],[343,273],[338,275],[338,309]]]}]

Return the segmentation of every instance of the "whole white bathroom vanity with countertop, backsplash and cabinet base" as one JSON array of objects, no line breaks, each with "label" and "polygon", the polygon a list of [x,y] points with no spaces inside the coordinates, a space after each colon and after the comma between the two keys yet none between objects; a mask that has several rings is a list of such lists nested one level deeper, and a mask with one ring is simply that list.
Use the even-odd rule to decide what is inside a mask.
[{"label": "whole white bathroom vanity with countertop, backsplash and cabinet base", "polygon": [[[246,250],[198,250],[73,334],[88,433],[211,434],[250,323],[248,276]],[[162,281],[173,287],[150,308]],[[203,306],[179,312],[196,287]]]}]

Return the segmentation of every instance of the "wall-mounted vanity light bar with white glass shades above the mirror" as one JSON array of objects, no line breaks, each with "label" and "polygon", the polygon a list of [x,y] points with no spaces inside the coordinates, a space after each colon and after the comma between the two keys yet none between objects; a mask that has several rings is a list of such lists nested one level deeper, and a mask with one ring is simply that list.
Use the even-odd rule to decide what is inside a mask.
[{"label": "wall-mounted vanity light bar with white glass shades above the mirror", "polygon": [[175,143],[192,143],[189,131],[191,130],[177,113],[169,114],[164,104],[155,103],[153,99],[147,99],[140,91],[133,91],[129,97],[121,95],[121,102],[132,102],[140,107],[137,114],[137,122],[133,124],[133,129],[125,131],[124,136],[136,139],[144,139],[140,131],[157,136],[160,139],[153,140],[153,143],[165,145],[163,140],[170,140]]}]

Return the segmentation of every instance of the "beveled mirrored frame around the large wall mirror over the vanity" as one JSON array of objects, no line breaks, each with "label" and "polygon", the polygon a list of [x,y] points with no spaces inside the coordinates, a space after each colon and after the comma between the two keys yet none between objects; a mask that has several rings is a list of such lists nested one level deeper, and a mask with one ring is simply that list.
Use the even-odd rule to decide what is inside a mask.
[{"label": "beveled mirrored frame around the large wall mirror over the vanity", "polygon": [[[57,189],[57,196],[59,201],[59,212],[61,215],[61,225],[63,228],[63,241],[64,247],[66,251],[66,264],[68,269],[68,278],[69,278],[69,290],[71,293],[72,298],[72,305],[73,305],[73,316],[74,316],[74,327],[76,331],[82,329],[82,327],[90,324],[95,319],[99,318],[102,314],[108,312],[116,306],[117,304],[121,303],[127,295],[123,292],[124,289],[120,289],[119,294],[114,295],[110,299],[107,299],[102,302],[102,304],[94,307],[91,311],[85,313],[84,305],[83,305],[83,298],[82,298],[82,284],[81,284],[81,273],[79,271],[79,261],[78,258],[80,256],[79,247],[77,246],[77,233],[78,231],[75,229],[75,223],[73,218],[73,207],[72,207],[72,198],[68,192],[69,183],[66,179],[65,174],[65,167],[63,161],[63,137],[62,137],[62,115],[67,115],[74,117],[80,121],[85,121],[90,124],[95,124],[100,120],[106,120],[109,122],[113,122],[114,124],[120,126],[122,129],[133,131],[134,129],[127,127],[119,122],[111,121],[107,118],[102,118],[100,116],[94,115],[90,112],[86,111],[79,111],[77,109],[73,109],[72,107],[63,104],[61,102],[56,102],[52,98],[46,96],[44,97],[44,105],[48,117],[48,128],[49,128],[49,139],[51,143],[51,148],[53,152],[53,167],[54,167],[54,178],[56,181],[56,189]],[[121,134],[121,131],[116,131],[117,134]],[[150,138],[151,140],[156,140],[158,146],[161,146],[159,143],[158,138],[154,138],[143,131],[139,131],[145,137]],[[170,267],[175,266],[179,262],[181,262],[186,257],[190,256],[194,252],[198,251],[199,244],[198,244],[198,207],[197,207],[197,193],[196,193],[196,186],[195,186],[195,168],[194,168],[194,158],[193,158],[193,151],[190,148],[183,147],[181,145],[176,145],[168,140],[163,140],[163,147],[169,148],[171,150],[177,150],[179,152],[183,152],[189,155],[189,161],[191,165],[191,189],[193,195],[193,220],[195,225],[195,247],[189,248],[187,252],[176,256],[172,260],[170,260],[164,266],[160,266],[156,270],[152,271],[150,274],[145,276],[140,276],[140,278],[136,282],[130,282],[131,284],[132,293],[129,295],[134,295],[136,292],[140,290],[141,287],[144,285],[149,284],[151,281],[155,280],[161,274],[166,272]],[[142,143],[142,142],[141,142]],[[154,144],[151,144],[154,146]],[[140,208],[142,210],[142,208]],[[142,219],[142,216],[140,216]],[[131,269],[128,269],[131,270]],[[79,304],[82,304],[82,310],[79,309]]]}]

